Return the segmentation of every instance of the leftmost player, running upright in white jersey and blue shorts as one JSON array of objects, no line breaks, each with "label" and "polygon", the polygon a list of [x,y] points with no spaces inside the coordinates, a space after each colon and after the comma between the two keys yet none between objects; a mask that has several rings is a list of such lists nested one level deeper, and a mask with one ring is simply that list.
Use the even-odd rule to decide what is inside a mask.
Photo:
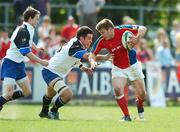
[{"label": "leftmost player, running upright in white jersey and blue shorts", "polygon": [[[25,73],[25,60],[30,59],[43,66],[48,65],[46,60],[41,60],[31,52],[31,47],[38,50],[32,39],[39,15],[38,10],[28,7],[23,13],[23,24],[18,26],[11,36],[11,45],[1,67],[3,95],[0,96],[0,110],[6,102],[31,94],[31,86]],[[21,90],[14,91],[16,83]]]}]

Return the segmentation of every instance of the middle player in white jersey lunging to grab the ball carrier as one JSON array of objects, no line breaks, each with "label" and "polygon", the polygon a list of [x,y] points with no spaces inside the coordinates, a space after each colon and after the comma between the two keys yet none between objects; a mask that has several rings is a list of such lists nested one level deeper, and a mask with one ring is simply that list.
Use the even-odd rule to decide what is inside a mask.
[{"label": "middle player in white jersey lunging to grab the ball carrier", "polygon": [[[71,89],[64,82],[65,76],[73,67],[77,66],[87,74],[92,74],[92,70],[83,66],[80,62],[82,58],[88,60],[89,52],[87,48],[91,45],[92,38],[93,31],[89,27],[80,27],[76,37],[57,51],[49,60],[49,65],[42,70],[42,76],[48,88],[43,96],[40,117],[59,119],[58,109],[69,102],[73,96]],[[111,58],[111,55],[98,55],[96,59],[101,61],[109,58]],[[59,96],[49,112],[49,105],[56,94]]]}]

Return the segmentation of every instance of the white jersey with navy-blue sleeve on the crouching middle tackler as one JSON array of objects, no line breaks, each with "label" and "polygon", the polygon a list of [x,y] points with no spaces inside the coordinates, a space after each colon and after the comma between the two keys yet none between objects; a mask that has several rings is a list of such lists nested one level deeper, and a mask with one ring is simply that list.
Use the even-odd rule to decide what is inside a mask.
[{"label": "white jersey with navy-blue sleeve on the crouching middle tackler", "polygon": [[80,60],[87,52],[80,41],[74,37],[56,52],[46,68],[64,78],[73,67],[81,64]]}]

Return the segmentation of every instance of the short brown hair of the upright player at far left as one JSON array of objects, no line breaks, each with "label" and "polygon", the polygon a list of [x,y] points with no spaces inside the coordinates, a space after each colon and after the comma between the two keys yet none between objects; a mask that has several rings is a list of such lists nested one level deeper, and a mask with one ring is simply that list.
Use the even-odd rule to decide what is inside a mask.
[{"label": "short brown hair of the upright player at far left", "polygon": [[36,14],[40,14],[40,12],[34,9],[33,7],[29,6],[23,13],[24,21],[27,22],[30,17],[33,19],[36,16]]}]

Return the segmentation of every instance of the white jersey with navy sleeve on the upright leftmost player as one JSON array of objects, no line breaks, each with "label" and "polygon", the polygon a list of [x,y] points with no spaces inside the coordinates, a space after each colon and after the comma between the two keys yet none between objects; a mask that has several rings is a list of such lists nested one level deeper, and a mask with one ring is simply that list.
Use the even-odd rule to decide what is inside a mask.
[{"label": "white jersey with navy sleeve on the upright leftmost player", "polygon": [[7,50],[5,58],[20,63],[26,61],[28,58],[25,56],[31,52],[33,43],[34,27],[27,22],[18,26],[11,36],[11,45]]}]

